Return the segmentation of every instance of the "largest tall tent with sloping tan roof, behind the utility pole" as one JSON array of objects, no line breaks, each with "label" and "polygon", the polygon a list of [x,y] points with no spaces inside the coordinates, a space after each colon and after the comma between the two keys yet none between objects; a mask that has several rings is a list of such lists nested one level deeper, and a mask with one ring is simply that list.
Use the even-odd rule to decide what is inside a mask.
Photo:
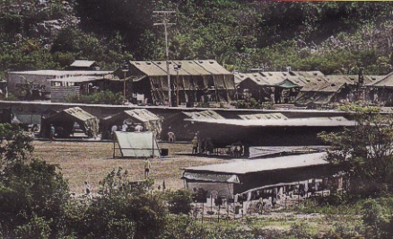
[{"label": "largest tall tent with sloping tan roof, behind the utility pole", "polygon": [[115,75],[126,75],[132,92],[144,94],[149,103],[168,104],[169,89],[172,105],[230,102],[234,97],[233,74],[215,60],[170,61],[170,85],[165,61],[130,61],[129,65],[127,72],[118,69]]}]

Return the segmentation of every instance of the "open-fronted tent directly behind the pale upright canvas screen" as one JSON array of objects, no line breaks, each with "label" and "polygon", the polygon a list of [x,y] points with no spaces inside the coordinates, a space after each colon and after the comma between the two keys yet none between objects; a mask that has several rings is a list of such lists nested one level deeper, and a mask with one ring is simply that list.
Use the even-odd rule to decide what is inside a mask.
[{"label": "open-fronted tent directly behind the pale upright canvas screen", "polygon": [[135,126],[141,124],[144,130],[154,132],[154,136],[160,138],[162,132],[162,120],[151,111],[145,109],[134,109],[129,111],[119,112],[117,115],[109,116],[100,120],[100,128],[102,131],[102,138],[109,138],[111,135],[112,126],[121,126],[126,123],[127,131],[135,131]]}]

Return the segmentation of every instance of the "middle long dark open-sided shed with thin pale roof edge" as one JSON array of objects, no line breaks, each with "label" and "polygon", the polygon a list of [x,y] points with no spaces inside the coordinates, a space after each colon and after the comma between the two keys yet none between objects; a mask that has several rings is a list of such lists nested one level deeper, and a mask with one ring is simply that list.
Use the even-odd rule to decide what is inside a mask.
[{"label": "middle long dark open-sided shed with thin pale roof edge", "polygon": [[[268,119],[268,117],[270,119]],[[280,117],[280,118],[279,118]],[[332,132],[353,127],[354,120],[345,117],[286,118],[280,115],[240,116],[243,119],[185,119],[199,128],[202,141],[213,148],[223,148],[241,142],[244,154],[249,146],[319,146],[321,131]],[[249,120],[248,120],[249,119]]]}]

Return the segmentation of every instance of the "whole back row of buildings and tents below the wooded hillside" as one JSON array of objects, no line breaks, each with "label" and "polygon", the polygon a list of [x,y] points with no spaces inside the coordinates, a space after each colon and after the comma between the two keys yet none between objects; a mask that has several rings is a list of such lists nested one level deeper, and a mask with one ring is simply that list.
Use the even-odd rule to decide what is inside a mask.
[{"label": "whole back row of buildings and tents below the wooded hillside", "polygon": [[[352,98],[389,103],[393,88],[392,74],[324,75],[320,71],[291,70],[233,74],[215,60],[170,60],[168,66],[165,61],[127,61],[115,71],[92,70],[97,67],[92,61],[78,61],[67,71],[10,72],[7,89],[21,99],[39,93],[39,99],[50,97],[52,102],[109,90],[125,94],[133,103],[193,107],[250,98],[298,106]],[[354,97],[349,97],[350,93]]]}]

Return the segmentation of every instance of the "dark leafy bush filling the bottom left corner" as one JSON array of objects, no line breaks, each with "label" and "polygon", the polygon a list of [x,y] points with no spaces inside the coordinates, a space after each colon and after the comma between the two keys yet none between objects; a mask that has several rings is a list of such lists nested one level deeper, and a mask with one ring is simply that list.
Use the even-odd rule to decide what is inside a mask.
[{"label": "dark leafy bush filling the bottom left corner", "polygon": [[8,164],[0,173],[0,231],[14,237],[39,222],[39,228],[50,227],[53,237],[61,228],[68,199],[68,185],[56,165],[36,159]]}]

